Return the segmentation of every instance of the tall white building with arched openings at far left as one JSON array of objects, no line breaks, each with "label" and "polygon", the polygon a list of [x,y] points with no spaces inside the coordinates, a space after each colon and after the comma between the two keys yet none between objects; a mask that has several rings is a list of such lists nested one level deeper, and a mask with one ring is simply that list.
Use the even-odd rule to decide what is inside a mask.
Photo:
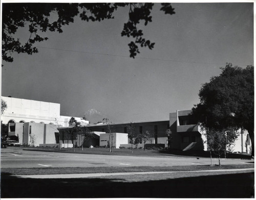
[{"label": "tall white building with arched openings at far left", "polygon": [[[8,124],[8,136],[16,136],[23,144],[56,143],[58,128],[69,127],[71,116],[60,115],[60,104],[30,99],[2,96],[7,109],[1,115],[1,122]],[[86,126],[89,121],[74,117]]]}]

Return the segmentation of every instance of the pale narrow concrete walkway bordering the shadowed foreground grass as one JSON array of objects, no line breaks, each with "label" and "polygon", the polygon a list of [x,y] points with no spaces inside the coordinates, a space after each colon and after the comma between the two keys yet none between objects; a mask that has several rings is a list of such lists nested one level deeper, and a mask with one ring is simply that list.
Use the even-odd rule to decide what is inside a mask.
[{"label": "pale narrow concrete walkway bordering the shadowed foreground grass", "polygon": [[90,177],[105,176],[134,176],[136,174],[159,174],[159,173],[182,173],[182,172],[232,172],[232,171],[254,171],[254,168],[244,169],[216,169],[216,170],[196,170],[196,171],[145,171],[145,172],[115,172],[115,173],[72,173],[72,174],[37,174],[37,175],[19,175],[19,178],[31,179],[81,179]]}]

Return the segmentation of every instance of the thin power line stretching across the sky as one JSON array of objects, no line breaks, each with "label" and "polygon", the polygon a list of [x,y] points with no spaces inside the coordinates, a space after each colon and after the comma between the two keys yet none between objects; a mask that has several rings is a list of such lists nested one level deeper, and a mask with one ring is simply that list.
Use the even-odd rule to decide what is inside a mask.
[{"label": "thin power line stretching across the sky", "polygon": [[[75,51],[70,49],[61,49],[61,48],[52,48],[52,47],[44,47],[44,46],[36,46],[37,48],[47,48],[53,49],[57,51],[63,52],[74,52],[74,53],[84,53],[84,54],[94,54],[94,55],[103,55],[103,56],[115,56],[115,57],[124,57],[130,58],[130,56],[121,56],[121,55],[114,55],[114,54],[100,54],[100,53],[93,53],[93,52],[84,52],[84,51]],[[207,62],[191,62],[191,61],[178,61],[178,60],[168,60],[168,59],[158,59],[158,58],[143,58],[143,57],[136,57],[137,59],[144,59],[144,60],[159,60],[159,61],[170,61],[170,62],[181,62],[181,63],[196,63],[196,64],[214,64],[214,65],[223,65],[223,63],[207,63]],[[233,63],[232,63],[233,64]],[[239,66],[247,66],[243,64],[233,64]]]}]

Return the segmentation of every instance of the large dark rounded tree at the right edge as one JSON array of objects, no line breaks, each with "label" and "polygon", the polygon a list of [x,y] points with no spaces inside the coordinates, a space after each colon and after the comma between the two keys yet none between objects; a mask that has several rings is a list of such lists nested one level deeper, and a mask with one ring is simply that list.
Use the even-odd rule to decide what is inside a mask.
[{"label": "large dark rounded tree at the right edge", "polygon": [[227,63],[219,76],[212,77],[199,91],[200,103],[192,109],[194,118],[207,129],[246,129],[254,155],[253,66],[241,68]]}]

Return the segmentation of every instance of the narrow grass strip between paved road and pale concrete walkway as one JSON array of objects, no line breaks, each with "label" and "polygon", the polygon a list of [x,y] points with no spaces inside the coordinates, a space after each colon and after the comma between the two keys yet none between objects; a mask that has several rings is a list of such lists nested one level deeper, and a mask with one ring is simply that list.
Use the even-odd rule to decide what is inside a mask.
[{"label": "narrow grass strip between paved road and pale concrete walkway", "polygon": [[141,172],[141,171],[193,171],[209,169],[243,169],[254,168],[253,164],[222,165],[222,166],[172,166],[172,167],[44,167],[44,168],[2,168],[2,174],[33,175],[33,174],[71,174],[71,173],[113,173],[113,172]]}]

